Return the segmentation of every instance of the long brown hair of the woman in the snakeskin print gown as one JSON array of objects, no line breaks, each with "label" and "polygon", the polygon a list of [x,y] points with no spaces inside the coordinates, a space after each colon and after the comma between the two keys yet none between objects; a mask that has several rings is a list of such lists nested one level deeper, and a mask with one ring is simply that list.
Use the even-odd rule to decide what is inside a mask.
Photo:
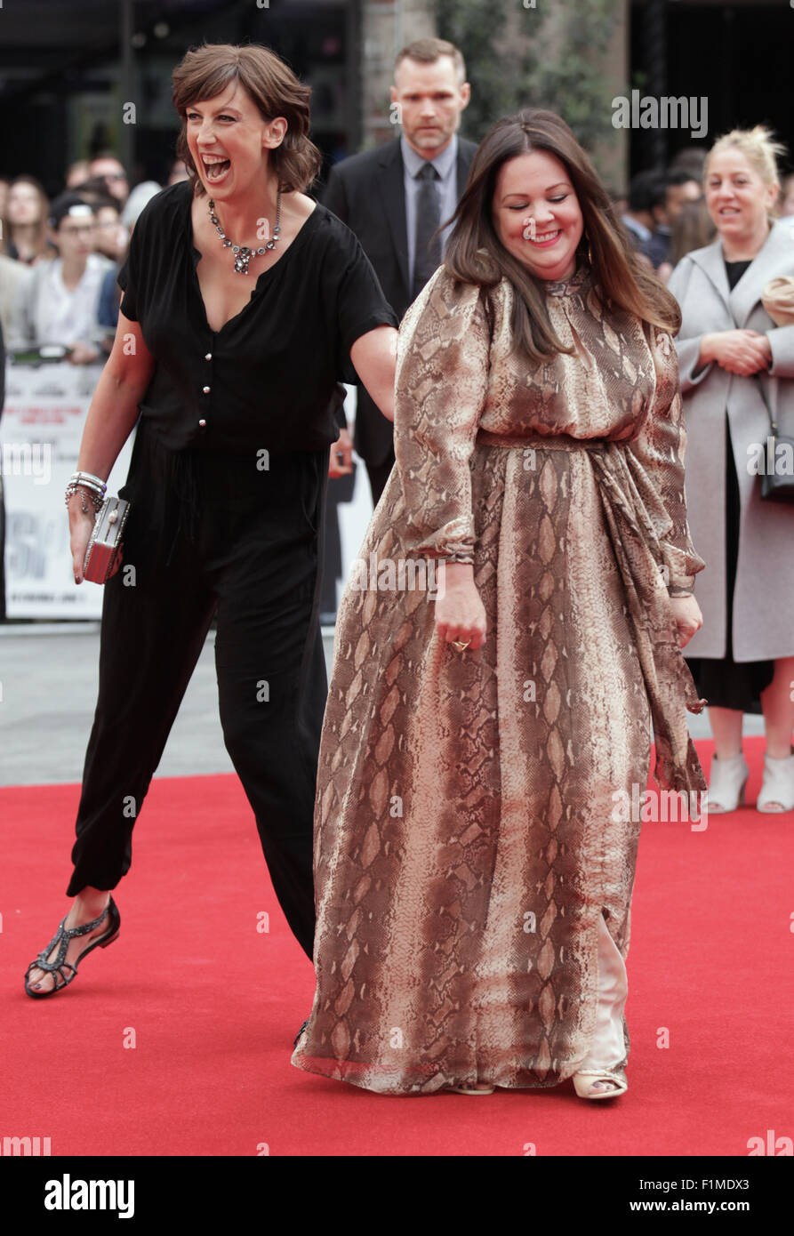
[{"label": "long brown hair of the woman in the snakeskin print gown", "polygon": [[531,274],[505,248],[493,226],[492,201],[500,168],[529,151],[548,151],[565,167],[584,218],[576,262],[590,262],[590,247],[594,287],[602,303],[675,334],[681,324],[678,302],[634,253],[587,154],[565,121],[553,111],[526,108],[498,120],[482,138],[451,216],[455,226],[444,255],[449,273],[485,289],[496,287],[502,278],[510,279],[516,290],[511,323],[513,350],[531,365],[557,352],[571,351],[557,337],[549,320],[544,281]]}]

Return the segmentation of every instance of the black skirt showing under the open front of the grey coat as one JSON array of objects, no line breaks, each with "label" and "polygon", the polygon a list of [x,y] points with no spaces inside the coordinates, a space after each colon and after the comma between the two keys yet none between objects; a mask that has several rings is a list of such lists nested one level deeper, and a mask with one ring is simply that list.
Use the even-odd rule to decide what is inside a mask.
[{"label": "black skirt showing under the open front of the grey coat", "polygon": [[[738,528],[741,498],[731,426],[725,417],[725,566],[726,566],[726,655],[693,656],[688,659],[698,695],[715,708],[733,708],[737,712],[762,712],[761,692],[774,676],[774,661],[733,660],[733,586],[738,559]],[[684,654],[685,655],[685,654]]]}]

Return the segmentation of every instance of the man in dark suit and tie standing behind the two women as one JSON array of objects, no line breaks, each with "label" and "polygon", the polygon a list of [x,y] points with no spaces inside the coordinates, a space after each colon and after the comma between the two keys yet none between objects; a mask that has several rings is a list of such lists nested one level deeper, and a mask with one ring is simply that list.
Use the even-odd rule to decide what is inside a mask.
[{"label": "man in dark suit and tie standing behind the two women", "polygon": [[[442,263],[451,227],[432,234],[454,213],[476,145],[458,136],[471,88],[453,43],[420,38],[395,62],[392,115],[402,135],[331,167],[323,205],[356,234],[399,318]],[[352,445],[366,464],[372,503],[395,462],[391,421],[357,384]],[[346,435],[346,436],[345,436]],[[336,449],[349,449],[346,430]]]}]

